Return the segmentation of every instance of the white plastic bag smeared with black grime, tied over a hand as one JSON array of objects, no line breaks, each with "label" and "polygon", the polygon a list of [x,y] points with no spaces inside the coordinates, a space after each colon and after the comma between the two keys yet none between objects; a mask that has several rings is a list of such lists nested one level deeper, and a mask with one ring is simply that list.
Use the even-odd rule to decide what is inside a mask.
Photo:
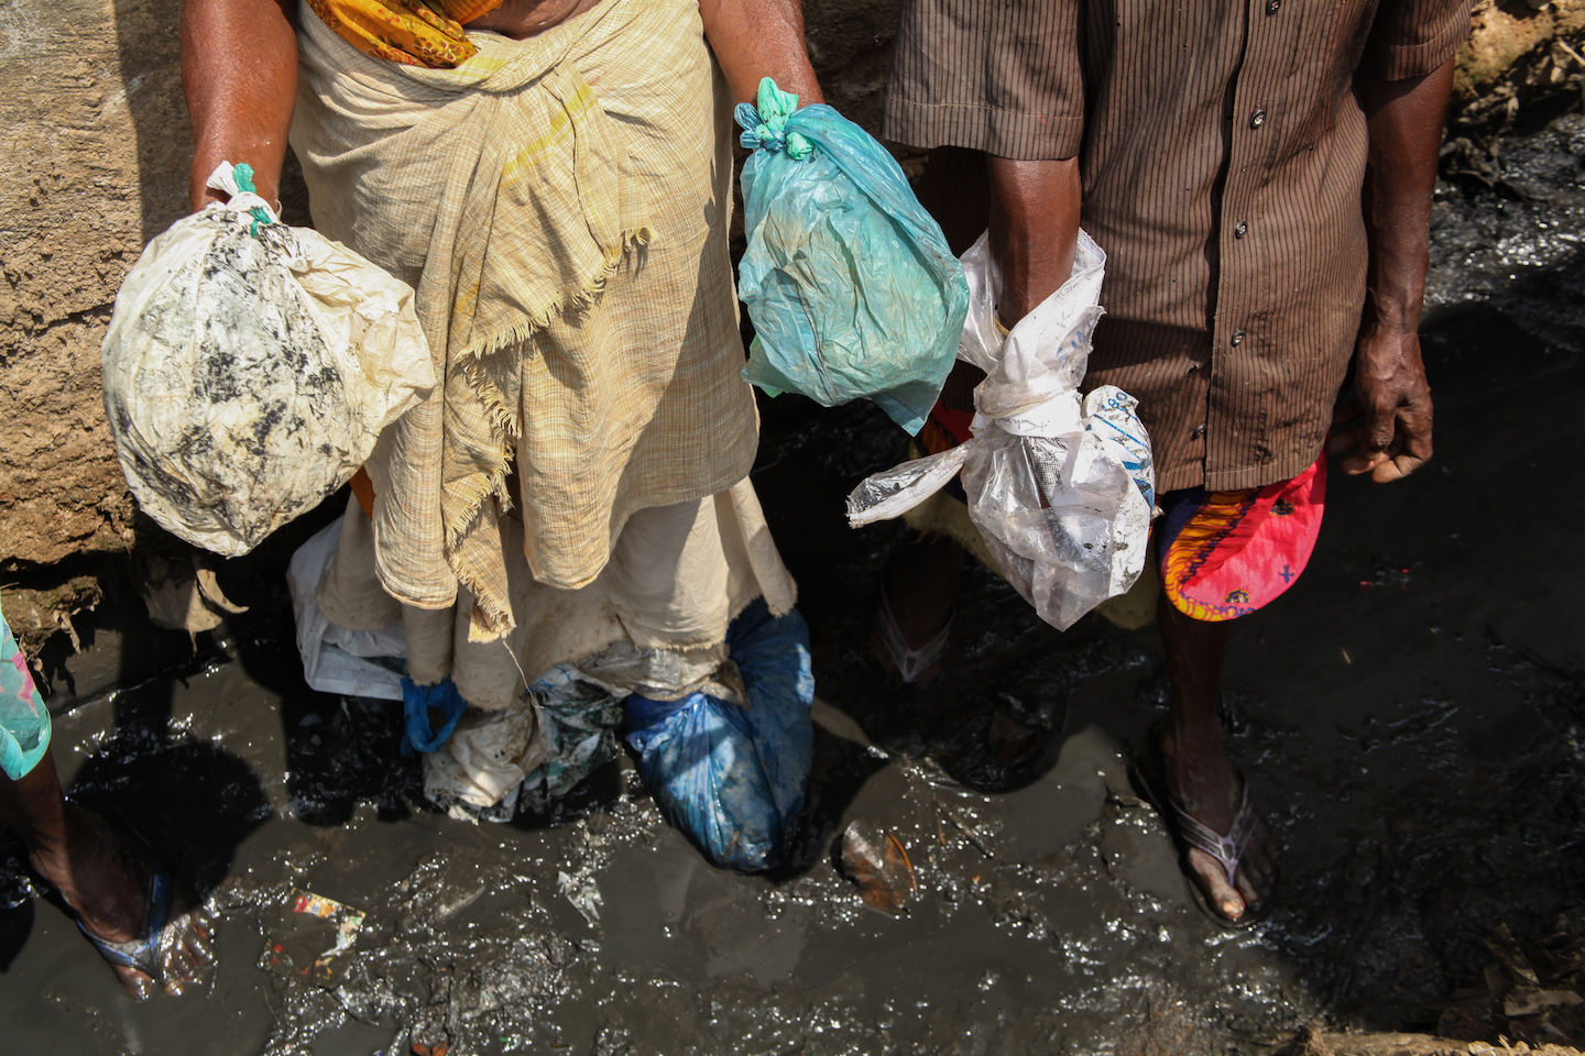
[{"label": "white plastic bag smeared with black grime, tied over a hand", "polygon": [[276,222],[252,171],[149,242],[105,334],[105,413],[144,513],[246,554],[341,488],[434,386],[414,291]]}]

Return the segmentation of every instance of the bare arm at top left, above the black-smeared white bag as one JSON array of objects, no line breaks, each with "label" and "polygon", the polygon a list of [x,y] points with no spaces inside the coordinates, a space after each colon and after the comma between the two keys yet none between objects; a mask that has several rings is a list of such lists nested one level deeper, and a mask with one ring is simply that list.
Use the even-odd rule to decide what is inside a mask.
[{"label": "bare arm at top left, above the black-smeared white bag", "polygon": [[187,0],[182,89],[193,125],[187,193],[193,209],[223,198],[204,188],[220,161],[247,161],[266,201],[281,188],[296,103],[293,0]]}]

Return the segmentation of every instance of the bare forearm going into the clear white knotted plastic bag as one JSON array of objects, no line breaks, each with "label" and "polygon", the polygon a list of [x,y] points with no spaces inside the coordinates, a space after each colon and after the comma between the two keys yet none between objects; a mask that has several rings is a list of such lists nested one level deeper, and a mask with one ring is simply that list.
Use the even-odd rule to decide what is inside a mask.
[{"label": "bare forearm going into the clear white knotted plastic bag", "polygon": [[987,158],[991,256],[1002,271],[997,318],[1011,328],[1073,274],[1079,239],[1079,165]]}]

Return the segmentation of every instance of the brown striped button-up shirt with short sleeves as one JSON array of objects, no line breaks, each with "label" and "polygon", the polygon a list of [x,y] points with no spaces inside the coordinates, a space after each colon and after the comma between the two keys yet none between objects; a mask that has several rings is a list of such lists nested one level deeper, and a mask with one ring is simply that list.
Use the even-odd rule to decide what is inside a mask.
[{"label": "brown striped button-up shirt with short sleeves", "polygon": [[1469,0],[903,0],[884,135],[1079,155],[1106,250],[1086,386],[1140,397],[1157,488],[1316,461],[1365,302],[1352,92],[1430,73]]}]

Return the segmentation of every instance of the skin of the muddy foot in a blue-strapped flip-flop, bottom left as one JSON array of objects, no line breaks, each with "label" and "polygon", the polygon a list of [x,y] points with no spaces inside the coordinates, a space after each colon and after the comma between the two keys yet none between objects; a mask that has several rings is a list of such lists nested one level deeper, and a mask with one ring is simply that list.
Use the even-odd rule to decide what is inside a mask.
[{"label": "skin of the muddy foot in a blue-strapped flip-flop, bottom left", "polygon": [[[155,863],[141,849],[124,842],[101,817],[68,803],[67,841],[62,852],[32,855],[33,868],[92,934],[111,942],[130,942],[143,933],[147,915],[149,876]],[[181,994],[214,964],[214,921],[178,882],[171,898],[163,942],[155,942],[165,991]],[[155,936],[158,939],[158,936]],[[155,982],[133,967],[111,966],[133,997],[154,993]]]}]

